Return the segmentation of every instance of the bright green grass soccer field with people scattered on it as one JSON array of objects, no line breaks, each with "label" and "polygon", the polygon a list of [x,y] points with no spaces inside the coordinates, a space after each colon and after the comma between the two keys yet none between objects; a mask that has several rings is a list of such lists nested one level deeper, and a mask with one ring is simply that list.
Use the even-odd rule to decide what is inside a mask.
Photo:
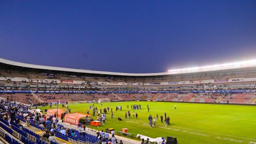
[{"label": "bright green grass soccer field with people scattered on it", "polygon": [[[70,104],[71,113],[86,113],[92,103]],[[125,119],[125,111],[131,111],[131,119]],[[138,120],[132,116],[131,105],[141,105],[141,110],[136,110]],[[150,108],[148,113],[147,105]],[[177,109],[174,110],[174,105]],[[116,106],[122,106],[122,111],[116,111]],[[178,143],[256,143],[256,107],[235,105],[209,105],[197,103],[174,103],[174,102],[108,102],[95,104],[94,107],[113,108],[114,118],[111,113],[107,114],[105,125],[93,129],[105,130],[114,128],[122,131],[127,128],[129,133],[147,135],[151,138],[166,136],[177,137]],[[42,109],[49,109],[49,106]],[[56,108],[55,106],[52,107]],[[59,105],[61,108],[61,105]],[[61,108],[62,109],[62,108]],[[103,110],[102,110],[103,111]],[[110,112],[110,110],[109,110]],[[167,127],[161,123],[160,116],[166,112],[170,117],[171,125]],[[92,115],[92,109],[90,110]],[[148,116],[153,118],[158,114],[156,126],[150,128]],[[119,121],[121,117],[123,121]],[[92,116],[96,119],[96,116]]]}]

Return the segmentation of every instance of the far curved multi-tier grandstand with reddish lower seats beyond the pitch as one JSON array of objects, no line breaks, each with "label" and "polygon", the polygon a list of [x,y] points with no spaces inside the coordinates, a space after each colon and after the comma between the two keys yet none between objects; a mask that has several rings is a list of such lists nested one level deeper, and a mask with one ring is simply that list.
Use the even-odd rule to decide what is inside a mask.
[{"label": "far curved multi-tier grandstand with reddish lower seats beyond the pitch", "polygon": [[[181,69],[154,74],[66,69],[4,59],[0,62],[0,96],[11,100],[19,97],[18,101],[23,103],[103,98],[111,101],[255,103],[256,67],[252,62],[240,67],[230,64],[228,68],[211,68],[212,71],[198,68],[197,73],[193,69],[191,73]],[[239,96],[243,94],[251,96]]]}]

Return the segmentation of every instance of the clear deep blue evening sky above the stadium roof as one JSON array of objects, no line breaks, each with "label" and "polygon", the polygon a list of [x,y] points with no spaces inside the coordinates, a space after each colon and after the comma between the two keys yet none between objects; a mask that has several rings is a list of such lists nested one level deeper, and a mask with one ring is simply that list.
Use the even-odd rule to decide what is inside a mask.
[{"label": "clear deep blue evening sky above the stadium roof", "polygon": [[127,73],[256,59],[256,1],[0,1],[0,57]]}]

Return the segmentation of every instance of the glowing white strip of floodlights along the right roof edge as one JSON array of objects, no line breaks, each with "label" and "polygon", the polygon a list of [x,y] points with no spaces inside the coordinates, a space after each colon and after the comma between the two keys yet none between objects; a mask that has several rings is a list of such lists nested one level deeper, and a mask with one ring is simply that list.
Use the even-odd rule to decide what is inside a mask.
[{"label": "glowing white strip of floodlights along the right roof edge", "polygon": [[223,63],[220,65],[211,65],[211,66],[203,66],[203,67],[170,69],[168,70],[168,72],[169,73],[194,73],[194,72],[201,72],[201,71],[235,69],[235,68],[245,68],[245,67],[255,67],[255,66],[256,66],[256,60],[247,60],[247,61]]}]

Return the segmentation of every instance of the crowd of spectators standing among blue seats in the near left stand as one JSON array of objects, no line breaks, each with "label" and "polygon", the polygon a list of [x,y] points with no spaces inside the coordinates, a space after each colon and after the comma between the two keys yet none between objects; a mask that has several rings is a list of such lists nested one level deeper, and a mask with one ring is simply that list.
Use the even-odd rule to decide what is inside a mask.
[{"label": "crowd of spectators standing among blue seats in the near left stand", "polygon": [[[77,137],[75,130],[70,130],[62,125],[57,125],[58,119],[54,116],[46,117],[41,113],[30,113],[28,111],[28,106],[19,104],[13,101],[1,100],[0,101],[0,117],[9,123],[9,125],[15,123],[20,128],[19,118],[17,116],[25,119],[27,126],[30,126],[31,123],[41,127],[43,129],[42,137],[47,138],[53,142],[57,142],[54,135],[55,133],[61,133],[63,135],[70,135],[72,137]],[[85,123],[80,124],[78,127],[79,136],[84,137],[86,134],[86,125]]]}]

